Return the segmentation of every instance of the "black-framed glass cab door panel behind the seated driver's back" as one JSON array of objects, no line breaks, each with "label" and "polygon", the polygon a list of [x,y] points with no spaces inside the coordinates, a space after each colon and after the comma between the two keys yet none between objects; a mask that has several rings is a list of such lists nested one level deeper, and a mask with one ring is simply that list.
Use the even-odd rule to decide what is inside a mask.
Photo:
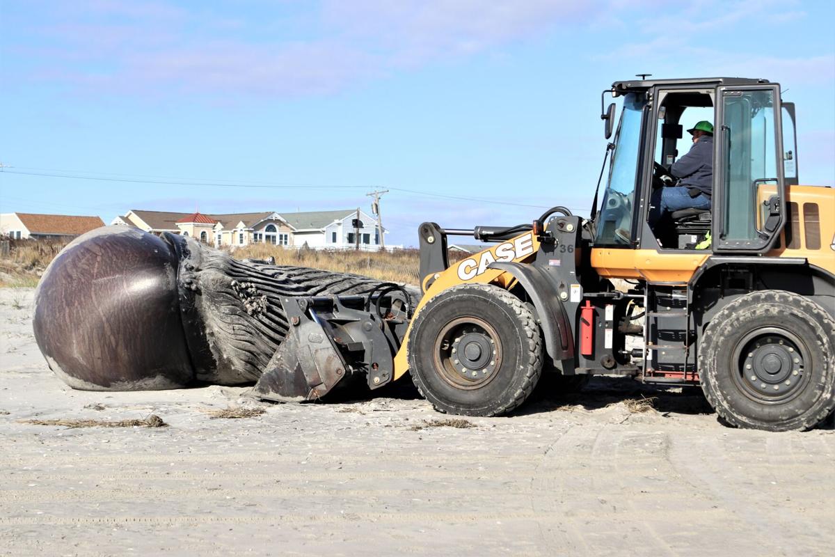
[{"label": "black-framed glass cab door panel behind the seated driver's back", "polygon": [[717,90],[713,249],[768,251],[786,220],[780,87]]}]

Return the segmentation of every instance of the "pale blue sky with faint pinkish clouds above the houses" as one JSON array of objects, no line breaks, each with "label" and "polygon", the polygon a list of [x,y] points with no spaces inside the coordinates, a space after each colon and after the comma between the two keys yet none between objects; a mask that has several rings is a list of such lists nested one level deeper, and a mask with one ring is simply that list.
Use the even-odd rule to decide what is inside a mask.
[{"label": "pale blue sky with faint pinkish clouds above the houses", "polygon": [[828,0],[0,0],[0,211],[368,210],[389,189],[407,246],[424,220],[587,213],[600,91],[635,73],[779,81],[802,182],[833,185],[833,21]]}]

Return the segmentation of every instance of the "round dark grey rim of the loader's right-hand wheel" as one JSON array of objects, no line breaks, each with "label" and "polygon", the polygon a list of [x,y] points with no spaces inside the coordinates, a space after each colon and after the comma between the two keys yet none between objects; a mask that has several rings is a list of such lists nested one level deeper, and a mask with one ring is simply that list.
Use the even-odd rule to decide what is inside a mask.
[{"label": "round dark grey rim of the loader's right-hand wheel", "polygon": [[787,335],[763,334],[749,340],[741,351],[742,373],[759,397],[782,397],[801,384],[802,351]]}]

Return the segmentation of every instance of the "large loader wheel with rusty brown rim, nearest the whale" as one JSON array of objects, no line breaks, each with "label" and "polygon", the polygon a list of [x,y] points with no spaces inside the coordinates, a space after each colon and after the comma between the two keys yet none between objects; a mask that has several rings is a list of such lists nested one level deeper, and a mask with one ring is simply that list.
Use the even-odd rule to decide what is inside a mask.
[{"label": "large loader wheel with rusty brown rim, nearest the whale", "polygon": [[509,413],[542,372],[533,313],[498,286],[453,286],[434,296],[417,313],[407,346],[417,390],[443,413]]}]

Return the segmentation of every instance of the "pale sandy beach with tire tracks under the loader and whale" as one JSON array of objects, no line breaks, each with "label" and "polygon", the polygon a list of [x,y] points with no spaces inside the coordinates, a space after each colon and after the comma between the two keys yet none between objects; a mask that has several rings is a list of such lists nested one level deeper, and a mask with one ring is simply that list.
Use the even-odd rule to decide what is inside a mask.
[{"label": "pale sandy beach with tire tracks under the loader and whale", "polygon": [[[407,388],[266,404],[248,387],[73,391],[0,290],[3,555],[824,555],[835,432],[726,428],[698,394],[595,378],[507,418]],[[631,400],[655,397],[644,413]],[[261,408],[252,418],[212,410]],[[67,428],[154,414],[167,427]],[[456,428],[451,425],[472,425]]]}]

